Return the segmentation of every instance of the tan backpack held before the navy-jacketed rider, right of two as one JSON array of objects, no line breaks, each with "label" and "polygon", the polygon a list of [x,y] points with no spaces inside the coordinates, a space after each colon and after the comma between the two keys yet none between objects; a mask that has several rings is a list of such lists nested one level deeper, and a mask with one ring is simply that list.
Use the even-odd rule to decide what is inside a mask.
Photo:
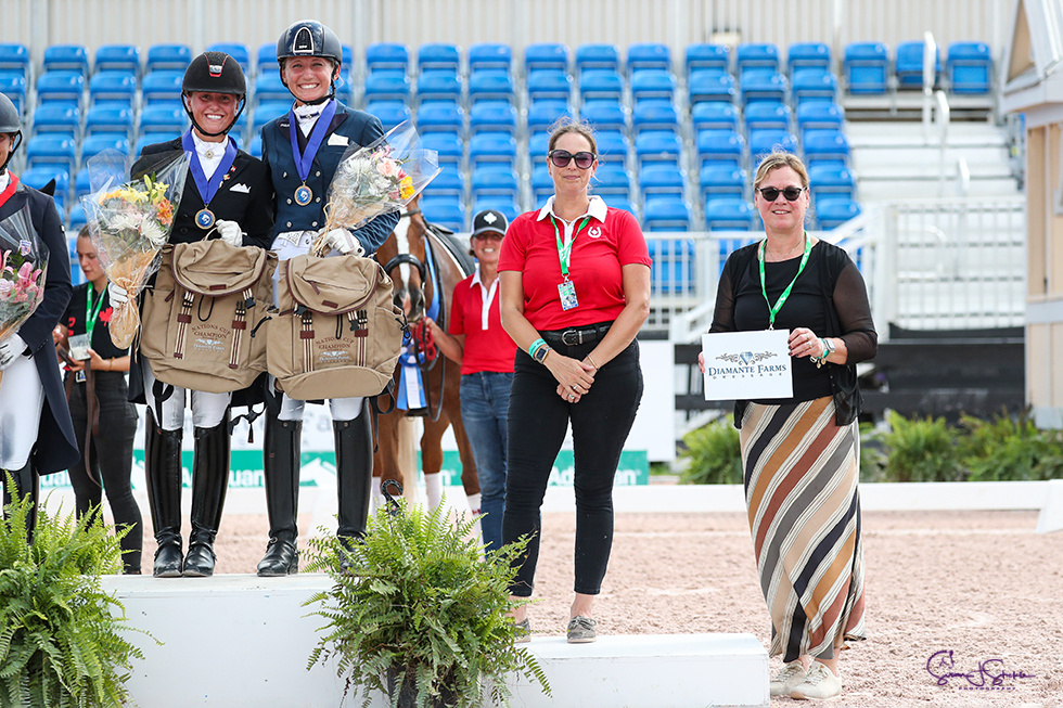
[{"label": "tan backpack held before the navy-jacketed rider, right of two", "polygon": [[392,381],[402,312],[372,258],[297,256],[280,266],[267,368],[296,400],[376,396]]}]

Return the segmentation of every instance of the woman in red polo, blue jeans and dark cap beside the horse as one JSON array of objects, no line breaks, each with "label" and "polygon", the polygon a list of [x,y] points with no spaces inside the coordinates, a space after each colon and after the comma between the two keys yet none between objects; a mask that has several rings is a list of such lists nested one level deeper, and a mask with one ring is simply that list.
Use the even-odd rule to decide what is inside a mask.
[{"label": "woman in red polo, blue jeans and dark cap beside the horse", "polygon": [[428,327],[446,357],[461,364],[461,420],[479,476],[481,529],[487,551],[502,545],[505,502],[507,411],[516,345],[502,329],[498,256],[505,216],[487,209],[473,218],[476,272],[454,286],[450,333],[431,319]]}]

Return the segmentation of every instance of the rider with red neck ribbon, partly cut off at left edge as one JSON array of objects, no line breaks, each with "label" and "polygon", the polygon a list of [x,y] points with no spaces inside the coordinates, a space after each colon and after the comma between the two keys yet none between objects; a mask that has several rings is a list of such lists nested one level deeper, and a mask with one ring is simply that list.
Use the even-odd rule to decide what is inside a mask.
[{"label": "rider with red neck ribbon, partly cut off at left edge", "polygon": [[27,519],[33,531],[40,475],[74,465],[78,448],[52,340],[71,299],[66,236],[52,197],[8,169],[21,141],[18,111],[0,93],[0,222],[24,213],[49,254],[43,300],[17,332],[0,340],[0,486],[5,504],[9,474],[17,493],[33,499]]}]

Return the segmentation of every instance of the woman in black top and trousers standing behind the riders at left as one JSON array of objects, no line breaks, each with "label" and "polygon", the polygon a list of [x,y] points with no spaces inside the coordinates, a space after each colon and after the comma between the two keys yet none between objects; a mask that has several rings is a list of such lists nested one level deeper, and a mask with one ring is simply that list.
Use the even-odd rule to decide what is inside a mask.
[{"label": "woman in black top and trousers standing behind the riders at left", "polygon": [[103,490],[107,490],[115,525],[131,527],[121,539],[125,572],[139,575],[143,525],[129,482],[137,434],[137,409],[127,400],[125,372],[129,371],[129,351],[111,343],[107,323],[113,308],[107,297],[107,276],[97,260],[87,227],[77,236],[77,259],[88,282],[74,287],[60,323],[67,337],[90,335],[89,358],[73,360],[66,366],[71,417],[81,446],[81,459],[69,469],[71,485],[78,518],[90,507],[99,506]]}]

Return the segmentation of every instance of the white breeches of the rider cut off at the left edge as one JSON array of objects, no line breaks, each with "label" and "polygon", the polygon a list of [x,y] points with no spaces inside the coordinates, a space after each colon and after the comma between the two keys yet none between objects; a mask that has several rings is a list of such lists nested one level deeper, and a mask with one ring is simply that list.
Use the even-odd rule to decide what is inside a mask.
[{"label": "white breeches of the rider cut off at the left edge", "polygon": [[33,357],[17,356],[0,382],[0,467],[22,469],[37,442],[44,388]]}]

